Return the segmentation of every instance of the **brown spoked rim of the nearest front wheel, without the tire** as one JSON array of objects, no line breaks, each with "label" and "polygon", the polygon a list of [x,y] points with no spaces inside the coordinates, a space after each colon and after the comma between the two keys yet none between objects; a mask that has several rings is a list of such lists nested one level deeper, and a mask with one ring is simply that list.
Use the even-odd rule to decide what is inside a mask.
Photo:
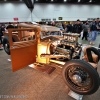
[{"label": "brown spoked rim of the nearest front wheel, without the tire", "polygon": [[92,87],[90,73],[79,65],[70,65],[65,71],[65,78],[78,91],[88,91]]}]

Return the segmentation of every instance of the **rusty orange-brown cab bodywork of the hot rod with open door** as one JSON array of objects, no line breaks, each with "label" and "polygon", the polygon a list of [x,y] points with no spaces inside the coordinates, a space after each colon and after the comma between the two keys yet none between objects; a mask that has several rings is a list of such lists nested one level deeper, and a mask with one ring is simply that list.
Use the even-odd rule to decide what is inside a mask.
[{"label": "rusty orange-brown cab bodywork of the hot rod with open door", "polygon": [[[51,36],[45,35],[46,32],[60,32],[60,29],[52,26],[37,26],[37,25],[27,25],[25,23],[21,23],[18,25],[18,29],[9,29],[9,42],[10,42],[10,51],[11,51],[11,59],[12,59],[12,68],[13,71],[16,71],[20,68],[26,67],[29,64],[34,62],[49,64],[52,62],[60,63],[59,61],[53,61],[50,58],[66,58],[67,52],[64,49],[56,49],[62,52],[60,55],[53,55],[50,53],[50,46],[53,44],[54,46],[58,45],[59,41],[64,39],[63,36]],[[12,33],[18,32],[19,41],[12,41]],[[41,39],[41,32],[45,32]],[[27,39],[27,35],[35,36],[34,39]],[[76,36],[76,37],[75,37]],[[74,34],[75,39],[78,35]],[[24,38],[24,39],[23,39]],[[24,41],[25,40],[25,41]],[[76,41],[76,40],[75,40]],[[63,54],[65,52],[65,55]],[[43,54],[49,54],[48,56]],[[16,60],[17,59],[17,60]],[[62,64],[63,62],[61,62]]]}]

